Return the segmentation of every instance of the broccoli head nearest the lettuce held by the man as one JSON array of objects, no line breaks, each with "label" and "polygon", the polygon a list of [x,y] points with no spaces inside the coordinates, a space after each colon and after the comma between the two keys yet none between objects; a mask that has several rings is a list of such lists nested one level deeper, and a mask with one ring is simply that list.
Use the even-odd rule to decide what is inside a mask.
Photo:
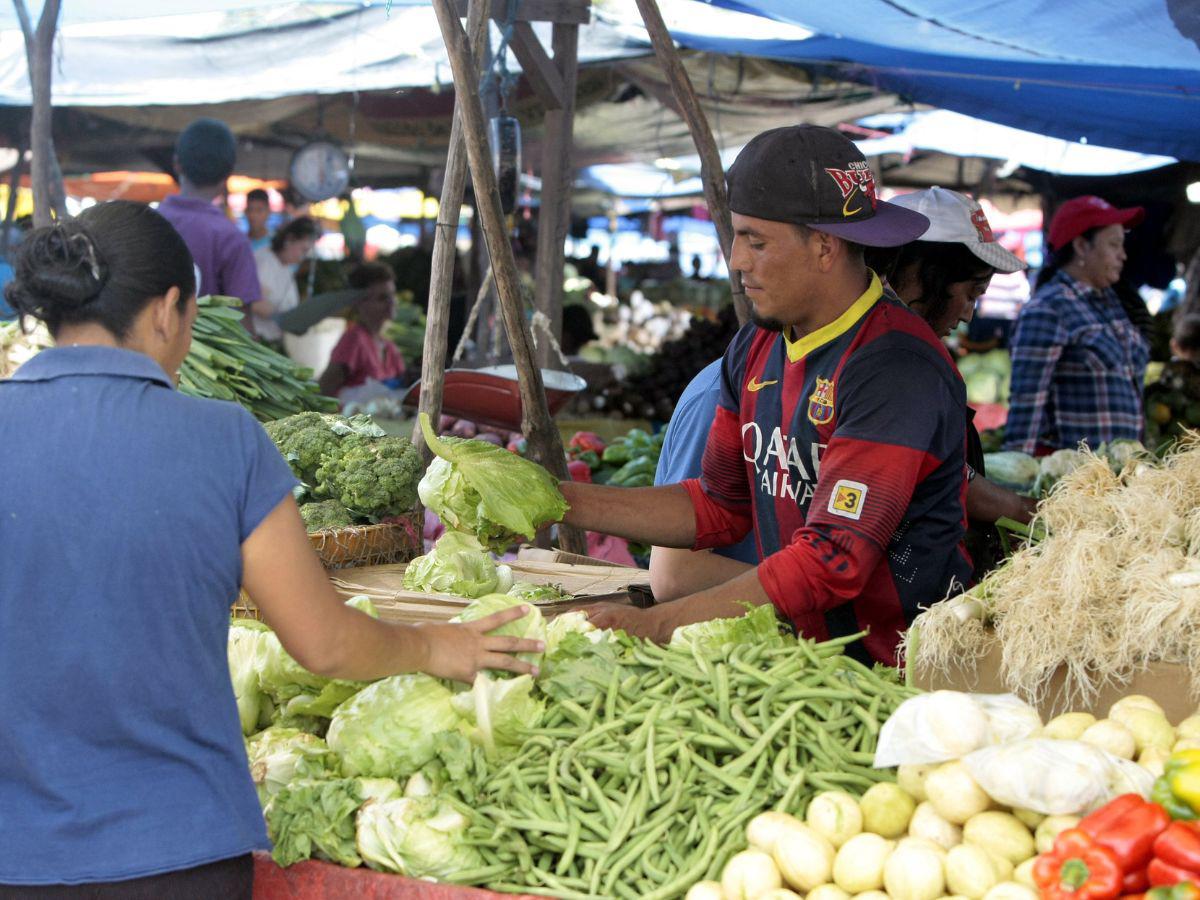
[{"label": "broccoli head nearest the lettuce held by the man", "polygon": [[372,521],[398,516],[416,505],[421,457],[404,438],[343,438],[338,452],[317,469],[318,491]]}]

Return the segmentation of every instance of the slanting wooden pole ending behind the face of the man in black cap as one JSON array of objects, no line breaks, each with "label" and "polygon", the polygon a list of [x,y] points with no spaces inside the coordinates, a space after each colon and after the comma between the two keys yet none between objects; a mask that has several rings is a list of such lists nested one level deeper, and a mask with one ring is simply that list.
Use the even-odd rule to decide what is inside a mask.
[{"label": "slanting wooden pole ending behind the face of the man in black cap", "polygon": [[[676,112],[688,124],[692,143],[696,144],[696,152],[700,154],[700,178],[704,184],[704,199],[708,202],[713,224],[716,226],[716,239],[721,244],[725,262],[728,263],[733,250],[733,221],[730,217],[730,194],[725,188],[725,167],[721,166],[721,155],[713,139],[713,131],[708,127],[708,119],[696,98],[691,78],[679,60],[658,4],[655,0],[637,0],[637,8],[642,13],[650,43],[654,44],[654,55],[659,58],[659,65],[662,66],[671,92],[674,95]],[[733,308],[737,311],[738,323],[744,325],[750,320],[750,305],[742,288],[742,275],[732,269],[730,288],[733,293]]]}]

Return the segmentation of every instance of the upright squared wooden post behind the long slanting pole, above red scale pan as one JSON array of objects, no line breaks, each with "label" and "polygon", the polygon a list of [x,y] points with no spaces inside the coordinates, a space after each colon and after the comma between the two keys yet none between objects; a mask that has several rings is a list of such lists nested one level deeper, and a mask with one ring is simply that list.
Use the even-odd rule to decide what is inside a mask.
[{"label": "upright squared wooden post behind the long slanting pole, above red scale pan", "polygon": [[[541,206],[538,209],[538,259],[534,306],[550,320],[554,341],[563,338],[563,263],[571,220],[571,144],[575,131],[575,82],[578,72],[580,26],[554,24],[554,68],[563,83],[563,103],[547,109],[542,124]],[[538,362],[553,365],[551,341],[538,347]]]}]

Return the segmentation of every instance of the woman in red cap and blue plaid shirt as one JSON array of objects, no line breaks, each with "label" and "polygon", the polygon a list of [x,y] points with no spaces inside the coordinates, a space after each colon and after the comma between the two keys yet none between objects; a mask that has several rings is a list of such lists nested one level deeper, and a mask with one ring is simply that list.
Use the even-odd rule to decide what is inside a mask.
[{"label": "woman in red cap and blue plaid shirt", "polygon": [[1099,197],[1076,197],[1050,221],[1049,264],[1013,332],[1006,450],[1046,454],[1144,433],[1150,344],[1112,287],[1126,228],[1145,218]]}]

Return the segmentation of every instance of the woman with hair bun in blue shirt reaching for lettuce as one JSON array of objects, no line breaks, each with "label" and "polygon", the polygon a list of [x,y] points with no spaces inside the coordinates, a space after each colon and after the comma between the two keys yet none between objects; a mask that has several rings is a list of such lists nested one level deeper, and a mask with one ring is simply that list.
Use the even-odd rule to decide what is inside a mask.
[{"label": "woman with hair bun in blue shirt reaching for lettuce", "polygon": [[0,382],[0,899],[245,898],[268,845],[227,662],[254,598],[306,668],[366,680],[527,672],[533,641],[390,625],[343,602],[287,463],[173,379],[192,257],[134,203],[26,236],[8,302],[56,347]]}]

